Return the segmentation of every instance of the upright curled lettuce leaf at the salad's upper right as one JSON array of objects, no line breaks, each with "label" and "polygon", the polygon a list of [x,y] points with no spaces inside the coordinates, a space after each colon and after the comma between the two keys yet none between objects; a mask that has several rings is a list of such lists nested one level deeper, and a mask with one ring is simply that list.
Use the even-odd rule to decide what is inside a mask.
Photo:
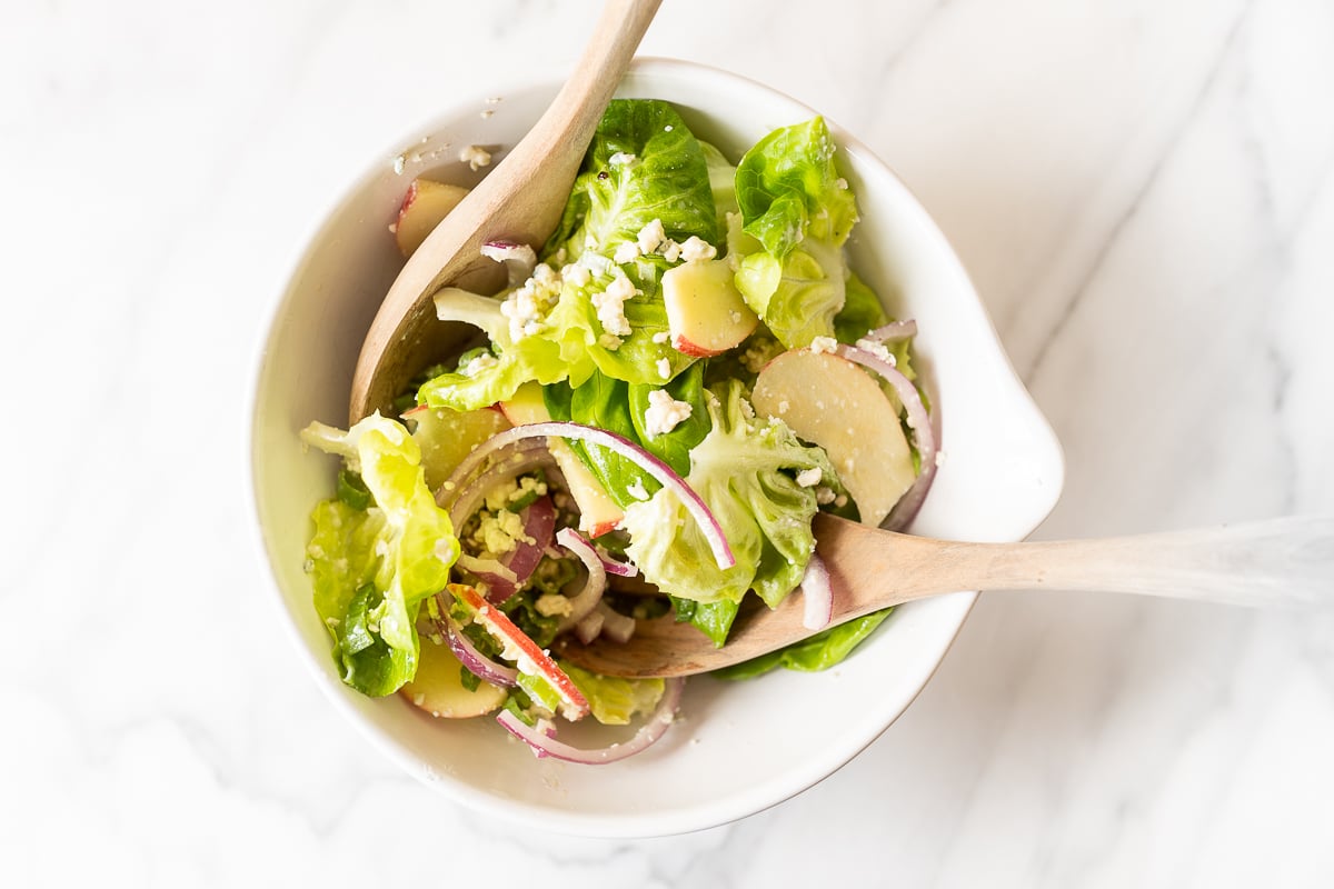
[{"label": "upright curled lettuce leaf at the salad's upper right", "polygon": [[822,117],[775,129],[736,167],[740,228],[755,249],[735,249],[736,288],[788,348],[834,336],[846,299],[843,244],[856,221],[852,192],[834,165]]}]

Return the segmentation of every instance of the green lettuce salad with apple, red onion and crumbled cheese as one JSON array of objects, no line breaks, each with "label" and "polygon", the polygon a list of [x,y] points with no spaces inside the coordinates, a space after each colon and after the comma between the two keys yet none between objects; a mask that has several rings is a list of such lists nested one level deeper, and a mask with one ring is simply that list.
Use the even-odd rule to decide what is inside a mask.
[{"label": "green lettuce salad with apple, red onion and crumbled cheese", "polygon": [[[835,152],[815,117],[734,165],[668,103],[612,101],[550,241],[486,245],[500,293],[436,295],[474,347],[396,417],[303,431],[343,458],[307,570],[344,682],[610,762],[667,730],[683,680],[579,669],[559,637],[626,641],[672,613],[726,645],[746,597],[803,596],[819,632],[719,672],[746,678],[824,669],[875,629],[886,612],[826,626],[811,520],[906,525],[936,449],[915,324],[847,265],[856,200]],[[414,181],[403,252],[463,193]],[[590,716],[638,729],[558,737]]]}]

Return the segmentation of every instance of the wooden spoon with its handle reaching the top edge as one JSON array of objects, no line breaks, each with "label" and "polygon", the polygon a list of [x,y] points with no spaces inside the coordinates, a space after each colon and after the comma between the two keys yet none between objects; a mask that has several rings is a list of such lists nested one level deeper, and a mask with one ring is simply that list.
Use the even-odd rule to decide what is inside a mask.
[{"label": "wooden spoon with its handle reaching the top edge", "polygon": [[491,292],[503,281],[500,264],[482,256],[483,244],[506,240],[539,248],[556,229],[598,121],[660,1],[607,1],[551,108],[408,259],[362,344],[350,423],[388,412],[408,381],[440,359],[450,325],[436,320],[436,291],[456,285]]}]

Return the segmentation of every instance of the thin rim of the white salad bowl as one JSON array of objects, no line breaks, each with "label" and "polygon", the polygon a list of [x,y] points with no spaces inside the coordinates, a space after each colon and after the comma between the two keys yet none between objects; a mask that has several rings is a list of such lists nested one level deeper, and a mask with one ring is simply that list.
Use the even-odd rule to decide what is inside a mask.
[{"label": "thin rim of the white salad bowl", "polygon": [[[747,91],[756,91],[760,93],[767,93],[767,96],[775,101],[788,105],[794,112],[804,113],[808,116],[819,115],[818,111],[807,105],[806,103],[794,99],[792,96],[784,93],[780,89],[763,84],[755,79],[739,75],[723,68],[718,68],[708,64],[671,59],[663,56],[638,56],[631,65],[628,76],[647,73],[648,76],[659,75],[679,75],[687,77],[704,77],[704,79],[719,79],[730,81],[735,87],[740,87]],[[512,81],[510,88],[542,88],[542,87],[558,87],[562,77],[552,72],[546,73],[543,69],[530,75],[526,79]],[[464,108],[471,108],[475,100],[486,95],[483,91],[478,91],[474,95],[471,91],[462,93],[450,104],[438,108],[428,119],[427,123],[447,120],[451,116],[459,113]],[[863,161],[879,165],[886,171],[890,177],[904,191],[904,193],[911,200],[915,213],[918,213],[922,221],[931,231],[931,236],[938,239],[944,247],[948,257],[948,264],[952,267],[950,272],[956,275],[968,288],[968,293],[978,304],[978,309],[982,321],[986,325],[987,333],[995,343],[996,353],[999,355],[1005,368],[1013,377],[1013,383],[1017,388],[1018,395],[1025,399],[1031,408],[1034,419],[1041,425],[1039,432],[1049,439],[1050,444],[1050,457],[1053,458],[1053,465],[1050,466],[1051,476],[1054,478],[1051,501],[1045,510],[1031,522],[1031,526],[1026,528],[1023,537],[1035,530],[1042,521],[1050,514],[1055,508],[1057,501],[1061,497],[1065,480],[1065,456],[1061,449],[1061,443],[1051,429],[1050,421],[1042,415],[1037,403],[1033,400],[1031,393],[1023,385],[1022,379],[1014,368],[1009,353],[1005,351],[1003,344],[996,333],[995,324],[986,309],[986,304],[974,285],[971,276],[964,268],[954,247],[948,243],[948,239],[940,231],[935,219],[927,212],[926,205],[918,199],[918,196],[908,188],[904,180],[883,161],[874,151],[870,149],[864,143],[856,139],[852,133],[847,132],[839,127],[835,121],[826,121],[830,131],[836,136],[839,147],[859,155]],[[419,125],[420,131],[422,127]],[[415,131],[407,131],[415,132]],[[394,143],[395,145],[402,145],[403,141]],[[387,152],[386,156],[392,156],[394,152]],[[342,212],[350,207],[356,197],[368,187],[368,184],[379,175],[379,168],[372,161],[367,168],[355,176],[348,185],[346,185],[342,195],[325,204],[321,212],[316,216],[320,223],[313,227],[313,231],[305,232],[305,237],[295,241],[299,244],[296,248],[299,255],[295,260],[288,264],[288,273],[281,279],[281,285],[276,289],[276,293],[267,303],[265,311],[261,312],[259,324],[255,331],[255,339],[251,344],[251,361],[248,365],[247,376],[247,395],[244,400],[244,424],[243,429],[243,446],[244,446],[244,461],[248,469],[248,484],[244,484],[244,497],[247,500],[247,512],[251,518],[251,532],[248,534],[252,545],[255,546],[255,554],[264,565],[265,582],[273,594],[265,598],[271,602],[271,608],[279,612],[279,622],[284,628],[283,632],[291,641],[291,644],[299,650],[299,657],[305,665],[305,669],[315,678],[316,685],[324,693],[335,709],[347,718],[355,728],[356,732],[370,741],[371,746],[379,753],[386,756],[390,761],[395,762],[408,774],[414,776],[423,784],[427,784],[434,790],[442,792],[454,802],[466,805],[468,808],[484,812],[488,816],[496,817],[502,821],[519,825],[523,828],[536,828],[546,832],[570,834],[570,836],[583,836],[583,837],[602,837],[602,838],[640,838],[640,837],[655,837],[655,836],[671,836],[690,833],[695,830],[704,830],[715,828],[723,824],[730,824],[738,821],[751,814],[758,814],[759,812],[774,808],[787,800],[799,796],[815,784],[819,784],[826,777],[834,774],[842,769],[847,762],[856,758],[862,752],[866,750],[871,744],[874,744],[888,728],[902,717],[904,712],[916,701],[922,694],[927,684],[935,677],[940,665],[943,664],[950,649],[958,640],[959,633],[963,629],[972,606],[976,602],[978,593],[975,590],[959,592],[951,594],[948,598],[956,598],[960,605],[960,612],[958,620],[954,624],[952,630],[948,632],[947,638],[939,648],[939,652],[931,658],[928,668],[923,669],[922,673],[915,680],[915,689],[908,694],[899,706],[898,712],[887,718],[883,725],[876,730],[871,732],[868,736],[860,737],[856,742],[848,748],[844,748],[838,756],[838,761],[830,768],[827,764],[820,765],[800,773],[795,780],[790,780],[784,784],[783,789],[778,793],[771,792],[768,785],[759,788],[767,796],[762,801],[752,798],[754,793],[732,794],[718,801],[712,801],[707,805],[695,805],[682,809],[674,809],[671,812],[663,813],[644,813],[624,818],[608,818],[603,814],[586,814],[582,812],[563,810],[559,813],[552,812],[550,808],[544,808],[532,802],[523,800],[512,800],[498,794],[491,794],[484,790],[476,789],[467,785],[466,782],[451,782],[438,774],[430,765],[422,762],[411,750],[408,750],[403,744],[387,732],[384,728],[376,725],[374,721],[359,713],[354,702],[346,694],[346,690],[336,682],[331,681],[327,665],[317,657],[316,652],[307,644],[305,638],[301,636],[300,626],[296,622],[296,616],[288,608],[285,597],[281,590],[276,574],[276,558],[277,553],[271,549],[269,540],[264,533],[261,524],[261,461],[257,460],[260,439],[257,435],[259,429],[259,416],[263,407],[264,395],[260,389],[261,383],[265,377],[267,359],[269,355],[269,345],[272,339],[272,332],[275,325],[280,321],[284,311],[287,311],[292,289],[295,284],[300,280],[305,268],[312,263],[315,248],[323,240],[325,240],[328,232],[335,225],[335,220],[342,215]],[[1022,538],[1022,537],[1021,537]],[[923,666],[926,665],[926,658],[923,658]]]}]

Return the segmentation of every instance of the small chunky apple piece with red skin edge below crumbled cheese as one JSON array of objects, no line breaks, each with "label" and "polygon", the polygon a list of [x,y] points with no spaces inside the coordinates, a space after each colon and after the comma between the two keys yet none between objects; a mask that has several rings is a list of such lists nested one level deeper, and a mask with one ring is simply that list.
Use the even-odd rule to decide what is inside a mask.
[{"label": "small chunky apple piece with red skin edge below crumbled cheese", "polygon": [[726,260],[686,263],[663,272],[667,331],[678,352],[722,355],[748,337],[759,317],[732,283]]}]

